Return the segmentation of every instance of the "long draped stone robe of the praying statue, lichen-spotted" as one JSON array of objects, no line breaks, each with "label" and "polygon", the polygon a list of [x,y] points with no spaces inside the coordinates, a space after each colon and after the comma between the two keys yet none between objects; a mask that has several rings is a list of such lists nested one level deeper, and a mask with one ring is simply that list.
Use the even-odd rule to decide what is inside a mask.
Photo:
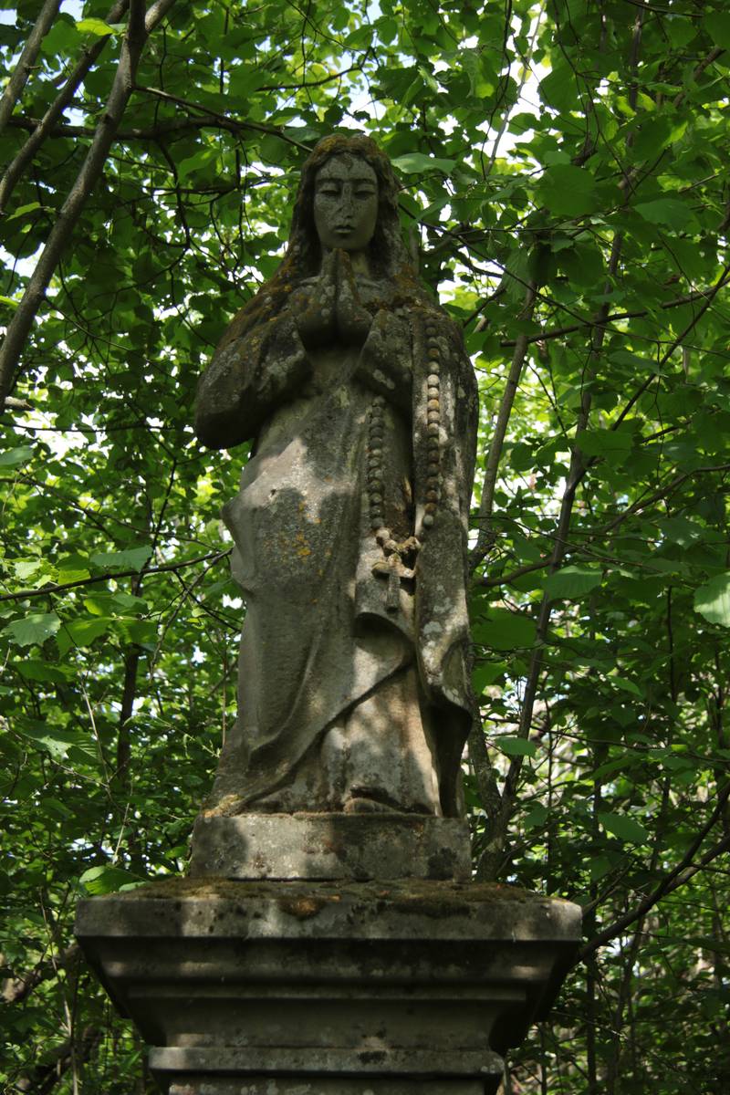
[{"label": "long draped stone robe of the praying statue, lichen-spotted", "polygon": [[[474,712],[465,557],[476,384],[445,313],[397,306],[387,284],[361,279],[358,289],[375,312],[363,346],[304,347],[296,323],[310,291],[303,283],[278,314],[251,330],[239,333],[234,321],[199,389],[197,429],[206,443],[255,439],[239,493],[223,507],[246,616],[239,714],[208,803],[212,812],[341,809],[341,794],[316,791],[316,773],[335,741],[357,766],[373,719],[367,773],[350,783],[364,783],[383,808],[447,816],[462,809],[460,759]],[[405,540],[421,526],[426,495],[427,327],[441,347],[441,497],[415,578],[401,583],[398,603],[389,608],[386,583],[373,572],[383,551],[368,506],[368,422],[380,395],[383,523]],[[379,696],[385,723],[373,714]],[[414,744],[414,719],[425,745]],[[348,721],[357,724],[349,744]],[[408,768],[409,750],[418,756]],[[424,757],[432,763],[434,800],[412,786],[428,782]],[[302,773],[311,803],[291,792]],[[358,786],[349,793],[359,794]]]}]

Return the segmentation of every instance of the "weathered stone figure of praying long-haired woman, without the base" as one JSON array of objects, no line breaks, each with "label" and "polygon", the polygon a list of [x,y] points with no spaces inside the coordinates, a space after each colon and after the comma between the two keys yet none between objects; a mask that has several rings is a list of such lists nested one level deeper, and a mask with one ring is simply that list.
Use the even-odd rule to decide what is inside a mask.
[{"label": "weathered stone figure of praying long-haired woman, without the base", "polygon": [[477,391],[419,284],[390,161],[327,137],[286,257],[199,389],[204,445],[253,439],[223,507],[246,615],[210,815],[462,812],[473,717]]}]

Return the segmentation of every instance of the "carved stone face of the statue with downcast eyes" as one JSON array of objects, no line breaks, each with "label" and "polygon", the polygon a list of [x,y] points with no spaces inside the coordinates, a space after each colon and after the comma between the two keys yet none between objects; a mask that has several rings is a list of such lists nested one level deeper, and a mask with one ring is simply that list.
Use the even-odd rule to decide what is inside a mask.
[{"label": "carved stone face of the statue with downcast eyes", "polygon": [[378,221],[378,177],[354,155],[334,155],[314,180],[314,224],[324,247],[362,251]]}]

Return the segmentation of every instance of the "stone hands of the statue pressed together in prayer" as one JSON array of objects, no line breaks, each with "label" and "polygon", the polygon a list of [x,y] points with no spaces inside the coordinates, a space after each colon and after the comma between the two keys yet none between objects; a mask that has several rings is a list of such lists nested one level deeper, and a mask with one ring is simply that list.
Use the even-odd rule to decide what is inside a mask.
[{"label": "stone hands of the statue pressed together in prayer", "polygon": [[372,315],[358,297],[350,256],[337,247],[325,256],[309,302],[298,311],[302,342],[312,347],[334,342],[361,346],[371,324]]}]

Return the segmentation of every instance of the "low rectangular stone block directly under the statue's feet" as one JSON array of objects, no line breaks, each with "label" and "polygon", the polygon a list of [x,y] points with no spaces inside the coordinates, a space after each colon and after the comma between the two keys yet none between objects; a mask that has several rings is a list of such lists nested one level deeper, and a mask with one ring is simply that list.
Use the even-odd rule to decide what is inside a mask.
[{"label": "low rectangular stone block directly under the statue's feet", "polygon": [[406,814],[200,815],[190,875],[220,878],[441,878],[466,881],[468,826]]}]

